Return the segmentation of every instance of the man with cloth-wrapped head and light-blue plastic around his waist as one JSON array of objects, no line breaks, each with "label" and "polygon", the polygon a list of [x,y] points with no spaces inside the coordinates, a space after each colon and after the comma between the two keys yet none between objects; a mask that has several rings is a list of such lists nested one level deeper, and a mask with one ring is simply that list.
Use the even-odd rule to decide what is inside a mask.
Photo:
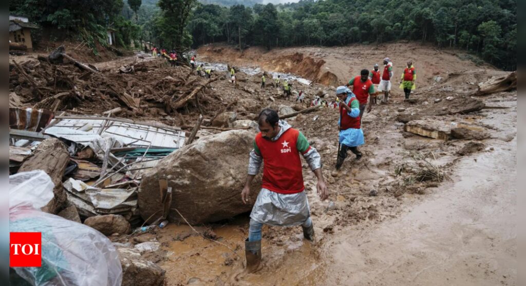
[{"label": "man with cloth-wrapped head and light-blue plastic around his waist", "polygon": [[336,170],[331,173],[334,177],[340,175],[340,168],[347,157],[347,150],[351,150],[356,155],[356,160],[360,160],[362,153],[358,150],[358,146],[365,143],[360,126],[360,103],[356,95],[346,86],[338,86],[336,95],[340,99],[340,119],[338,120],[338,129],[340,130],[338,143],[340,147]]}]

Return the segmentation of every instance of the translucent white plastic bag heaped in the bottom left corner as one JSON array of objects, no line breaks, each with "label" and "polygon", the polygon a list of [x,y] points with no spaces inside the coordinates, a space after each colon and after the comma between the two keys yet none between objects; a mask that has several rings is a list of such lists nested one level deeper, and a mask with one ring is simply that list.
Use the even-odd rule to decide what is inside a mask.
[{"label": "translucent white plastic bag heaped in the bottom left corner", "polygon": [[53,198],[53,182],[46,173],[9,176],[9,187],[10,231],[42,233],[42,267],[13,268],[20,277],[46,286],[122,283],[118,253],[106,236],[87,225],[35,209]]}]

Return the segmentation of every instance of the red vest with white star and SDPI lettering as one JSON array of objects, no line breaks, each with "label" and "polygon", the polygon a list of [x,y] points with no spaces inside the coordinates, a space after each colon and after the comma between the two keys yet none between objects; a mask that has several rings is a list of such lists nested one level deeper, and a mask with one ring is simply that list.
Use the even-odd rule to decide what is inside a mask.
[{"label": "red vest with white star and SDPI lettering", "polygon": [[261,188],[280,194],[295,194],[305,189],[296,147],[298,136],[299,131],[293,128],[281,134],[276,141],[264,139],[261,132],[256,135],[256,145],[263,157]]}]

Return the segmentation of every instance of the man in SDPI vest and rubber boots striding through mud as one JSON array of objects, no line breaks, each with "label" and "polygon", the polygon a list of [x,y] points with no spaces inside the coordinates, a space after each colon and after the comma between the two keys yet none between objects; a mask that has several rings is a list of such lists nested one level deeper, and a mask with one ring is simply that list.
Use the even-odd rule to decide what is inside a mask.
[{"label": "man in SDPI vest and rubber boots striding through mud", "polygon": [[250,213],[249,235],[245,240],[248,272],[259,270],[263,224],[301,225],[305,239],[314,241],[299,153],[318,179],[316,189],[320,199],[326,200],[329,196],[321,173],[320,154],[309,145],[305,136],[287,122],[279,120],[275,110],[262,110],[258,124],[261,132],[256,135],[254,149],[250,152],[247,181],[241,192],[243,203],[247,203],[250,184],[264,163],[261,191]]}]

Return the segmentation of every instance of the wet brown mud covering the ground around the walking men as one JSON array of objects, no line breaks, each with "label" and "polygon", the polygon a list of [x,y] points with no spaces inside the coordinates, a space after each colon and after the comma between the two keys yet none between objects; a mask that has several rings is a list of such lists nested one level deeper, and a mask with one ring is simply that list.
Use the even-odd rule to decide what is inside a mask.
[{"label": "wet brown mud covering the ground around the walking men", "polygon": [[[403,44],[398,45],[403,50]],[[359,58],[368,48],[351,46],[345,51]],[[491,67],[475,70],[471,62],[442,52],[438,53],[446,60],[436,60],[433,54],[426,54],[430,48],[426,49],[408,44],[404,50],[414,55],[413,63],[424,75],[412,95],[416,101],[403,101],[398,86],[393,84],[396,92],[391,102],[373,106],[372,112],[363,117],[366,144],[360,147],[362,159],[355,161],[349,152],[341,176],[330,175],[338,150],[337,110],[323,108],[287,120],[320,152],[331,192],[329,200],[319,200],[316,177],[304,163],[316,243],[303,240],[299,227],[264,226],[264,268],[246,274],[243,242],[248,233],[248,214],[194,228],[169,224],[112,240],[130,244],[160,242],[160,250],[146,252],[143,257],[166,270],[167,285],[514,285],[517,92],[475,97],[479,83],[507,73]],[[322,59],[323,53],[333,50],[321,51],[317,57]],[[282,50],[276,53],[287,56]],[[200,54],[198,58],[202,58]],[[134,61],[147,62],[147,71],[133,75],[116,72],[118,67]],[[333,62],[335,58],[327,56],[325,61]],[[259,64],[247,59],[244,63]],[[119,76],[130,78],[116,83],[124,90],[149,88],[156,96],[174,88],[164,84],[165,76],[178,78],[188,73],[185,67],[170,68],[159,59],[135,57],[99,63],[98,67],[113,80]],[[362,66],[347,68],[350,72],[341,77],[356,73]],[[432,76],[438,74],[443,79],[436,82]],[[277,88],[261,90],[258,76],[240,75],[246,80],[239,87],[229,83],[226,74],[218,76],[220,80],[200,93],[201,110],[195,103],[178,112],[166,111],[154,100],[141,106],[141,113],[126,111],[123,115],[190,130],[201,112],[207,120],[221,109],[237,111],[238,119],[254,119],[262,107],[278,109],[298,104],[280,97]],[[202,81],[196,77],[196,82]],[[295,83],[294,89],[304,90],[309,102],[320,90],[328,93],[326,100],[334,98],[332,88],[319,84]],[[458,112],[473,101],[482,101],[486,108]],[[108,102],[104,106],[108,109],[117,104],[115,100]],[[308,103],[299,105],[307,107]],[[78,112],[89,112],[89,106],[76,108]],[[97,112],[102,111],[97,106]],[[433,120],[446,128],[463,126],[490,136],[483,140],[430,139],[405,132],[400,118],[407,116]],[[198,136],[215,132],[220,131],[204,130]],[[418,170],[426,164],[431,164],[443,180],[421,181]],[[411,171],[407,165],[416,169]]]}]

